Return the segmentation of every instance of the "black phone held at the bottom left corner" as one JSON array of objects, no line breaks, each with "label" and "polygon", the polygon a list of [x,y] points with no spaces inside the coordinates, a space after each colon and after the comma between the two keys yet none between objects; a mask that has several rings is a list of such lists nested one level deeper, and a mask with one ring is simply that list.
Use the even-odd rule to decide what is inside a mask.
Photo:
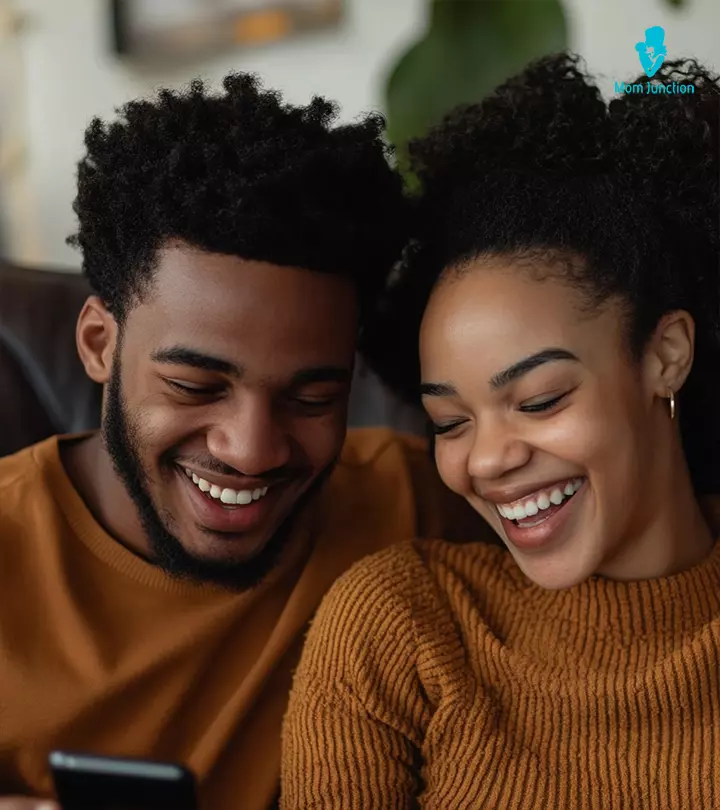
[{"label": "black phone held at the bottom left corner", "polygon": [[198,810],[195,777],[182,765],[53,751],[63,810]]}]

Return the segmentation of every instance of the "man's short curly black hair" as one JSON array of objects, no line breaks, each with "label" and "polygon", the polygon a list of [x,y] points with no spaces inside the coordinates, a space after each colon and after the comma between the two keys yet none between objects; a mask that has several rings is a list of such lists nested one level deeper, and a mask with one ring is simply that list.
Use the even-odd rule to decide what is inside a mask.
[{"label": "man's short curly black hair", "polygon": [[403,184],[384,120],[337,125],[334,104],[305,107],[233,73],[126,104],[85,134],[68,240],[122,324],[171,239],[202,249],[352,278],[362,308],[407,242]]}]

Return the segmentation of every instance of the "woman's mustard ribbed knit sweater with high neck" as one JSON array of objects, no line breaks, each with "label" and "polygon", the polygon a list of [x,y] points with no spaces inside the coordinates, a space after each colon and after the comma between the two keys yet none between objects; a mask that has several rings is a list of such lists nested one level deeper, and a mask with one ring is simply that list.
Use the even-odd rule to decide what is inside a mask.
[{"label": "woman's mustard ribbed knit sweater with high neck", "polygon": [[282,768],[285,810],[720,808],[720,546],[565,591],[481,544],[359,563],[309,634]]}]

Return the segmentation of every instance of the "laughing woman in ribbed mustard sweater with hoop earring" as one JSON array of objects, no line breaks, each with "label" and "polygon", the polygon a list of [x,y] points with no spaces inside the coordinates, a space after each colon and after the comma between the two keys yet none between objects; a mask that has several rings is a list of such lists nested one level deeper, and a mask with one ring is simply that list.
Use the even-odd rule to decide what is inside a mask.
[{"label": "laughing woman in ribbed mustard sweater with hoop earring", "polygon": [[[337,584],[283,807],[720,807],[720,85],[655,81],[694,93],[608,106],[552,57],[413,145],[387,315],[420,326],[438,469],[503,547],[418,542]],[[402,383],[415,346],[382,347]]]}]

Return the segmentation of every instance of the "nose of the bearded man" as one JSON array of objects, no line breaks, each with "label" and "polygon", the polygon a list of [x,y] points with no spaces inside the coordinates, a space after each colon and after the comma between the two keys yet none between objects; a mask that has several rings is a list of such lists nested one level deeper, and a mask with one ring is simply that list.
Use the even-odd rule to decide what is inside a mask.
[{"label": "nose of the bearded man", "polygon": [[207,433],[210,453],[243,475],[262,475],[284,467],[291,439],[270,403],[245,401]]}]

